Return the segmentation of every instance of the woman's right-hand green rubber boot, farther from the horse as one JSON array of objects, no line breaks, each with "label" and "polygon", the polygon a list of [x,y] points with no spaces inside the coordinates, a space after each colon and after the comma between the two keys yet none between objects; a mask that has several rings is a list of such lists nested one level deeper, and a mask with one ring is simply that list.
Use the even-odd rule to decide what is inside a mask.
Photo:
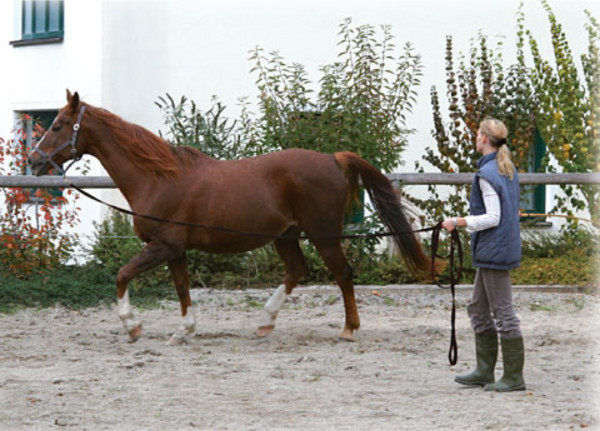
[{"label": "woman's right-hand green rubber boot, farther from the horse", "polygon": [[484,389],[497,392],[524,391],[523,365],[525,363],[525,349],[523,347],[523,337],[500,338],[500,345],[502,346],[504,374],[498,382],[485,385]]}]

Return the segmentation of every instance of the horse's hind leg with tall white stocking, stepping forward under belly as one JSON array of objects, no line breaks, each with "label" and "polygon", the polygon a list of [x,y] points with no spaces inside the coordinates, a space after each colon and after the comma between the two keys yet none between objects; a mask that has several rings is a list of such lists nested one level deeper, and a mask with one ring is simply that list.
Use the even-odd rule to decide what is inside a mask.
[{"label": "horse's hind leg with tall white stocking, stepping forward under belly", "polygon": [[[290,232],[291,233],[291,232]],[[296,232],[295,232],[296,233]],[[256,335],[264,337],[275,329],[275,319],[283,303],[306,273],[307,265],[297,239],[278,239],[275,248],[285,265],[284,284],[280,285],[265,304]]]}]

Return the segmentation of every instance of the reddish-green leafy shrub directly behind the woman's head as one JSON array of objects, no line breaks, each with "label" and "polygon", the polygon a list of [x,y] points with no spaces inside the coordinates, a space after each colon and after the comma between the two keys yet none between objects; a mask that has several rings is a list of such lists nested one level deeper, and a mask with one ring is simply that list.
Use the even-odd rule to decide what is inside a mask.
[{"label": "reddish-green leafy shrub directly behind the woman's head", "polygon": [[[452,37],[446,38],[446,97],[449,118],[444,121],[437,88],[431,89],[436,148],[427,147],[423,159],[442,172],[474,172],[479,155],[475,151],[479,123],[492,116],[503,120],[510,130],[509,148],[518,169],[527,169],[529,151],[535,134],[533,90],[523,73],[526,69],[522,47],[518,46],[517,64],[508,68],[502,62],[502,42],[490,49],[488,37],[478,34],[468,57],[454,61]],[[417,162],[416,168],[424,172]],[[428,186],[428,200],[412,198],[429,222],[451,214],[467,212],[470,186],[456,186],[455,193],[442,199],[439,190]],[[440,204],[440,202],[442,204]],[[423,217],[425,218],[425,216]]]}]

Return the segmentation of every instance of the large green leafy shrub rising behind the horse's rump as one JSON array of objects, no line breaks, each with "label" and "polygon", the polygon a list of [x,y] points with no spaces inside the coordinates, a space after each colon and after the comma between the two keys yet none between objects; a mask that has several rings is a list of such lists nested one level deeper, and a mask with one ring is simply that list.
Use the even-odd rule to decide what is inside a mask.
[{"label": "large green leafy shrub rising behind the horse's rump", "polygon": [[[257,47],[261,118],[254,125],[266,150],[310,148],[353,151],[384,171],[401,162],[411,130],[406,113],[415,101],[421,60],[409,43],[397,54],[389,26],[340,24],[338,61],[323,66],[314,92],[304,67]],[[314,97],[311,97],[313,96]]]}]

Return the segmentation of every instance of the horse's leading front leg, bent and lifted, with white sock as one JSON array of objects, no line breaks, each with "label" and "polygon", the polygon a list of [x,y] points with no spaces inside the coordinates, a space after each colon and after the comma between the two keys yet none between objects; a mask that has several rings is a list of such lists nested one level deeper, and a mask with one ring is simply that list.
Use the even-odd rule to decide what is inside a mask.
[{"label": "horse's leading front leg, bent and lifted, with white sock", "polygon": [[128,285],[131,280],[161,263],[167,261],[172,253],[167,247],[160,243],[149,242],[144,249],[136,254],[117,275],[117,302],[119,307],[119,318],[123,322],[125,330],[131,341],[136,341],[142,333],[142,324],[137,320],[129,303]]}]

